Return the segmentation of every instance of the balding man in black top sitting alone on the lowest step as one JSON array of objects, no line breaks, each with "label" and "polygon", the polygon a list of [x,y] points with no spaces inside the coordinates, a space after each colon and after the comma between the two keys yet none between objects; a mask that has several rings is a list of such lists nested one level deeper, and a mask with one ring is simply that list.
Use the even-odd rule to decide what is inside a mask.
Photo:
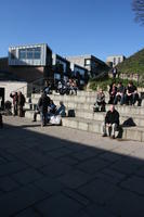
[{"label": "balding man in black top sitting alone on the lowest step", "polygon": [[110,105],[110,110],[106,113],[105,122],[103,123],[103,137],[112,137],[115,139],[115,132],[119,126],[119,113]]}]

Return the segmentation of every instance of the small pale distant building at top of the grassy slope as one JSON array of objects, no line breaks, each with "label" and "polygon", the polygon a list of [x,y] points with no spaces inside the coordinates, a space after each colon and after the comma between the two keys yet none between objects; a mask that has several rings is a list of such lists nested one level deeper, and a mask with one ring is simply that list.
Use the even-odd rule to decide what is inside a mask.
[{"label": "small pale distant building at top of the grassy slope", "polygon": [[107,65],[115,67],[116,65],[123,62],[125,60],[126,60],[125,55],[110,55],[110,56],[107,56],[106,63]]}]

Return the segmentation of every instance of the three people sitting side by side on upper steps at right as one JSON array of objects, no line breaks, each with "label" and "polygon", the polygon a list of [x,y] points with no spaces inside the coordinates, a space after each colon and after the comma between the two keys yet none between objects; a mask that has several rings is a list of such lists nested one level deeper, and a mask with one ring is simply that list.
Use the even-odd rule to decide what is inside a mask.
[{"label": "three people sitting side by side on upper steps at right", "polygon": [[141,105],[141,98],[138,93],[136,86],[133,85],[132,81],[129,81],[128,86],[125,87],[121,81],[113,82],[109,87],[109,101],[108,104],[117,104],[120,105],[134,105],[138,102],[138,105]]}]

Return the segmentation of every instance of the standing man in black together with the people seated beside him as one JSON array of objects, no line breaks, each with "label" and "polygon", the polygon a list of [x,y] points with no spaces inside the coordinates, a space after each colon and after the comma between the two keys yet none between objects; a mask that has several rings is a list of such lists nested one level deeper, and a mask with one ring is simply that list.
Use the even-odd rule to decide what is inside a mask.
[{"label": "standing man in black together with the people seated beside him", "polygon": [[45,126],[47,123],[50,122],[51,118],[54,118],[56,116],[64,117],[66,116],[65,112],[66,107],[63,103],[63,101],[60,101],[60,107],[57,108],[54,104],[53,100],[50,99],[50,97],[47,95],[45,91],[41,92],[41,97],[39,98],[36,111],[34,113],[34,120],[37,122],[37,114],[40,114],[41,117],[41,126]]}]

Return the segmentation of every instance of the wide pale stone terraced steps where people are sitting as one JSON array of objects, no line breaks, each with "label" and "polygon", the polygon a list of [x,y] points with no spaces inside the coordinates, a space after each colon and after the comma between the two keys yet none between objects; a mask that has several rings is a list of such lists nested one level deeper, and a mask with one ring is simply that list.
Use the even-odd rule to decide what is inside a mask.
[{"label": "wide pale stone terraced steps where people are sitting", "polygon": [[[40,94],[31,95],[31,103],[28,102],[25,105],[26,117],[32,119],[34,111],[31,108],[38,103]],[[77,95],[50,95],[54,103],[58,106],[62,100],[67,108],[74,108],[76,117],[63,118],[63,126],[75,129],[86,130],[90,132],[101,133],[102,123],[105,117],[105,113],[93,113],[93,104],[95,102],[95,92],[78,91]],[[108,101],[108,94],[106,94],[106,102]],[[106,111],[109,105],[106,105]],[[125,140],[144,141],[144,107],[143,106],[126,106],[116,105],[116,110],[120,113],[120,124],[125,120],[132,118],[136,126],[122,127],[121,137]],[[38,120],[40,117],[38,117]]]}]

